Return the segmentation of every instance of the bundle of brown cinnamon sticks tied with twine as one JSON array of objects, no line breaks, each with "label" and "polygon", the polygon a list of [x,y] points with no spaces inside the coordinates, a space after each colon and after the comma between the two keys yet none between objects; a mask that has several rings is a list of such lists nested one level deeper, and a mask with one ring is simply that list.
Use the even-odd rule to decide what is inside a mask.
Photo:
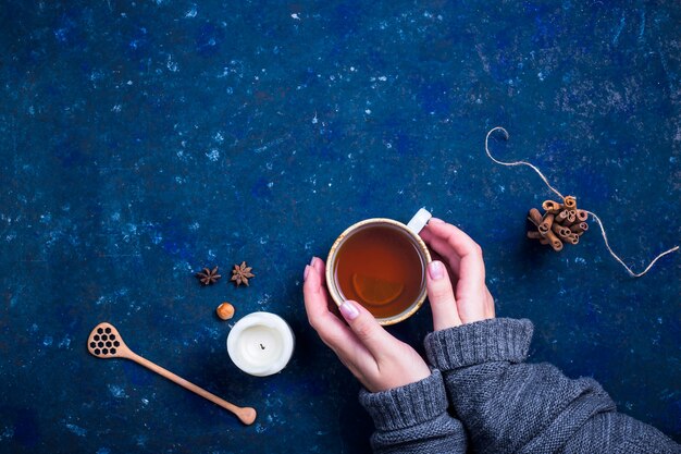
[{"label": "bundle of brown cinnamon sticks tied with twine", "polygon": [[532,208],[528,220],[536,230],[528,232],[528,238],[538,240],[541,244],[549,245],[554,250],[562,250],[564,244],[578,244],[580,236],[589,230],[586,219],[589,212],[577,208],[577,199],[567,196],[562,204],[546,200],[542,204],[544,214]]}]

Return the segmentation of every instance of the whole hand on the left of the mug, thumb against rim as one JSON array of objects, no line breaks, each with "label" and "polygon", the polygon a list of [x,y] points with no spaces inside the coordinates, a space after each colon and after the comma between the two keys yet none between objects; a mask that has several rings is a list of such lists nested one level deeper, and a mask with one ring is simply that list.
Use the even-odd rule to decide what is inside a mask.
[{"label": "whole hand on the left of the mug, thumb against rim", "polygon": [[361,305],[348,300],[339,307],[348,324],[329,310],[324,262],[320,258],[312,258],[305,267],[302,293],[310,326],[369,391],[404,386],[431,375],[423,358],[385,331]]}]

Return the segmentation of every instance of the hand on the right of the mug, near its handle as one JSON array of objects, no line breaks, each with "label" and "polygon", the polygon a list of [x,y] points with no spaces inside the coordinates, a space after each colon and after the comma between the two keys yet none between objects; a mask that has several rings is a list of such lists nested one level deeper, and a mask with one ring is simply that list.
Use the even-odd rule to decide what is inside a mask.
[{"label": "hand on the right of the mug, near its handle", "polygon": [[[423,241],[447,261],[433,260],[426,272],[428,297],[435,331],[494,318],[494,298],[485,285],[482,249],[466,233],[431,218],[420,233]],[[454,283],[454,289],[453,289]]]}]

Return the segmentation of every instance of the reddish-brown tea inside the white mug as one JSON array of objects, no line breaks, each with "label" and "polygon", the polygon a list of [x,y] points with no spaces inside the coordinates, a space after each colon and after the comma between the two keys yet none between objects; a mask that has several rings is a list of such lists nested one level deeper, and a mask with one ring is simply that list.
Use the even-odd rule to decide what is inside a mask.
[{"label": "reddish-brown tea inside the white mug", "polygon": [[338,248],[334,279],[345,299],[376,318],[398,315],[419,299],[423,260],[408,233],[392,225],[367,225]]}]

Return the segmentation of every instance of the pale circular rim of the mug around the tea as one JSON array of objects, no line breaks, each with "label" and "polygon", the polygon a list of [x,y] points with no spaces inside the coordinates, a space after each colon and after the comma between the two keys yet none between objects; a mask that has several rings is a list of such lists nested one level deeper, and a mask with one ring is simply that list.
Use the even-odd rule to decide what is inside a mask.
[{"label": "pale circular rim of the mug around the tea", "polygon": [[[396,221],[394,219],[389,219],[389,218],[364,219],[345,229],[343,233],[338,235],[336,241],[333,243],[333,246],[331,246],[331,249],[329,250],[329,256],[326,257],[326,272],[325,272],[326,284],[329,287],[329,293],[331,294],[331,298],[334,300],[336,306],[340,306],[343,304],[343,297],[340,296],[340,292],[336,289],[336,284],[335,284],[335,280],[333,275],[333,261],[336,258],[338,247],[345,241],[345,238],[348,235],[350,235],[352,232],[359,230],[360,228],[367,224],[374,224],[374,223],[375,224],[383,223],[383,224],[391,224],[391,225],[397,226],[399,230],[410,235],[416,241],[417,245],[419,246],[419,253],[421,257],[424,259],[423,260],[424,261],[423,278],[425,279],[425,272],[428,272],[425,268],[432,261],[432,258],[431,258],[431,253],[428,249],[428,246],[425,245],[421,236],[412,232],[406,224],[399,221]],[[408,319],[409,317],[411,317],[412,315],[414,315],[421,308],[421,306],[423,306],[423,303],[425,302],[425,297],[426,297],[426,287],[425,285],[423,285],[423,289],[421,290],[421,293],[419,294],[419,297],[416,300],[416,303],[411,304],[407,309],[403,310],[399,314],[396,314],[395,316],[382,317],[382,318],[376,317],[376,321],[384,327],[399,323],[400,321],[404,321]]]}]

